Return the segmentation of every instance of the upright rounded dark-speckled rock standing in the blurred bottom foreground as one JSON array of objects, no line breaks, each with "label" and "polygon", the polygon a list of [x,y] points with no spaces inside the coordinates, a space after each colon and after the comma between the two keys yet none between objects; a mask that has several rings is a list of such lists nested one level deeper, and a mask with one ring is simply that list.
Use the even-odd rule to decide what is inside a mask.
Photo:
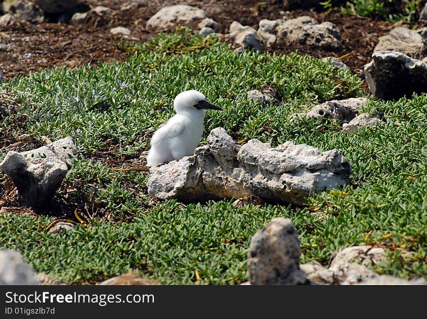
[{"label": "upright rounded dark-speckled rock standing in the blurred bottom foreground", "polygon": [[251,285],[309,285],[299,268],[301,247],[294,223],[273,218],[251,239],[247,269]]}]

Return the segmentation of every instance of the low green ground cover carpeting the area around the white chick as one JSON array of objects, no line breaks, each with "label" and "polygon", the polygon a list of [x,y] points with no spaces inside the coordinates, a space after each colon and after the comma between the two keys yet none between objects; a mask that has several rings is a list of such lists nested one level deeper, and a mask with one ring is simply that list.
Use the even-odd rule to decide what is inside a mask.
[{"label": "low green ground cover carpeting the area around the white chick", "polygon": [[[327,265],[340,248],[367,243],[389,249],[389,262],[375,271],[427,276],[426,94],[370,102],[363,111],[384,123],[342,134],[335,121],[291,122],[289,116],[327,100],[366,96],[349,70],[297,53],[238,55],[215,37],[182,28],[142,45],[120,45],[130,52],[127,62],[42,70],[3,83],[19,108],[0,126],[14,124],[16,137],[71,136],[80,154],[50,214],[0,215],[0,249],[17,249],[36,272],[69,284],[129,271],[162,284],[239,284],[247,280],[251,236],[283,216],[296,225],[302,263]],[[264,84],[279,91],[279,103],[246,97]],[[352,165],[351,183],[301,207],[153,201],[148,172],[129,163],[139,160],[152,133],[174,114],[175,95],[189,89],[224,109],[207,112],[201,144],[222,126],[239,144],[259,138],[273,146],[293,140],[320,151],[337,148]],[[24,120],[16,125],[17,119]],[[0,160],[5,155],[2,149]],[[76,210],[84,224],[48,233],[65,208]],[[403,251],[410,257],[404,259]]]}]

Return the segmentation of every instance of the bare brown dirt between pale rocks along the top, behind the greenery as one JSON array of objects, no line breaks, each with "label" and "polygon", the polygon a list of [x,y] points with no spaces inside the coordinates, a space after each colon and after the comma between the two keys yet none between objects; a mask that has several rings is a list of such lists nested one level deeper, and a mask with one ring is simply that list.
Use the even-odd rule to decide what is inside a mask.
[{"label": "bare brown dirt between pale rocks along the top, behind the greenery", "polygon": [[[93,8],[103,5],[113,9],[113,14],[101,18],[92,16],[88,23],[74,27],[66,23],[52,23],[49,19],[39,25],[27,22],[0,27],[0,71],[6,79],[26,76],[41,68],[66,66],[73,68],[91,62],[123,61],[126,53],[117,46],[120,37],[110,34],[112,27],[123,26],[131,30],[131,40],[143,42],[154,33],[146,30],[147,20],[167,5],[189,4],[202,8],[207,15],[220,23],[220,32],[227,33],[230,23],[237,20],[243,25],[258,29],[263,19],[277,19],[284,14],[282,1],[257,0],[87,0],[81,3]],[[322,9],[322,8],[318,8]],[[387,33],[393,25],[372,18],[348,16],[337,9],[292,10],[291,18],[310,15],[319,22],[331,21],[342,32],[343,50],[328,52],[311,47],[279,47],[271,51],[288,53],[298,49],[301,54],[315,57],[343,57],[352,71],[361,74],[364,64],[370,61],[378,36]]]}]

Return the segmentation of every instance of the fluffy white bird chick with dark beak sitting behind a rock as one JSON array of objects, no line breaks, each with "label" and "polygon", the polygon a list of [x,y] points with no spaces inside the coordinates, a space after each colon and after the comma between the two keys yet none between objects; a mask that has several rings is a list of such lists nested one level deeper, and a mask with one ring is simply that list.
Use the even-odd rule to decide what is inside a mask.
[{"label": "fluffy white bird chick with dark beak sitting behind a rock", "polygon": [[178,94],[174,99],[174,108],[177,114],[151,138],[148,167],[193,155],[203,134],[206,109],[222,111],[221,107],[207,102],[206,97],[196,90]]}]

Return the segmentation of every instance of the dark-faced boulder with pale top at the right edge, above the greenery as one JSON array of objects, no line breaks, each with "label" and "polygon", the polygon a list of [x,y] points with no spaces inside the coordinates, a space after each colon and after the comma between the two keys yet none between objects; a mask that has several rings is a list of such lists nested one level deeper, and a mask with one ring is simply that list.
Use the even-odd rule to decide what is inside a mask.
[{"label": "dark-faced boulder with pale top at the right edge, above the greenery", "polygon": [[427,92],[427,64],[396,51],[379,51],[365,65],[366,81],[375,99],[392,100]]}]

